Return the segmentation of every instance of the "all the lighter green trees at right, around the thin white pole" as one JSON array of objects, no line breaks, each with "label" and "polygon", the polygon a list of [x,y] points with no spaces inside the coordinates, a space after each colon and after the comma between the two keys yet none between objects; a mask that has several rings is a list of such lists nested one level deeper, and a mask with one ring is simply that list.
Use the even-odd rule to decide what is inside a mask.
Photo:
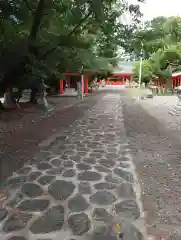
[{"label": "all the lighter green trees at right, around the thin white pole", "polygon": [[[146,23],[144,30],[137,30],[128,42],[126,50],[132,58],[140,58],[143,43],[143,75],[142,81],[147,82],[158,78],[160,83],[166,80],[171,86],[171,75],[181,66],[181,18],[158,17]],[[139,62],[134,66],[134,78],[138,79]]]}]

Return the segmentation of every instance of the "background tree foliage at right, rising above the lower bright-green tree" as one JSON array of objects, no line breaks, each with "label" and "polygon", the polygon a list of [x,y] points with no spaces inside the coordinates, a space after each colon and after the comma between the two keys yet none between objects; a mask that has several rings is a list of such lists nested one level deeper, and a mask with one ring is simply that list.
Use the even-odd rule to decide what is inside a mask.
[{"label": "background tree foliage at right, rising above the lower bright-green tree", "polygon": [[133,58],[139,59],[141,44],[143,44],[144,58],[149,59],[158,49],[178,44],[180,40],[181,18],[157,17],[146,22],[144,30],[137,28],[133,31],[124,48]]}]

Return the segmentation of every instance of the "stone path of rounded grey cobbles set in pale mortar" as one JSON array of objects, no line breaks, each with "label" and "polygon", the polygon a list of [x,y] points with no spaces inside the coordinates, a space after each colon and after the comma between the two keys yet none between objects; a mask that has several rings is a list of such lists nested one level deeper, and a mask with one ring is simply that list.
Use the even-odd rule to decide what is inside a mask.
[{"label": "stone path of rounded grey cobbles set in pale mortar", "polygon": [[148,239],[118,93],[107,93],[72,134],[5,185],[0,239]]}]

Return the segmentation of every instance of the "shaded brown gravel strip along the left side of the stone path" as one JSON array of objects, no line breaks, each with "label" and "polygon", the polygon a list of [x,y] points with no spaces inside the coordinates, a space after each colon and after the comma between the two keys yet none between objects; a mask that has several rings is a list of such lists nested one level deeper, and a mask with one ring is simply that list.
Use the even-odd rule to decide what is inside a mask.
[{"label": "shaded brown gravel strip along the left side of the stone path", "polygon": [[[100,98],[100,95],[99,95]],[[51,112],[33,110],[17,122],[0,126],[0,183],[40,151],[39,143],[69,126],[98,101],[94,93],[83,102],[62,98]],[[70,105],[72,106],[70,107]]]}]

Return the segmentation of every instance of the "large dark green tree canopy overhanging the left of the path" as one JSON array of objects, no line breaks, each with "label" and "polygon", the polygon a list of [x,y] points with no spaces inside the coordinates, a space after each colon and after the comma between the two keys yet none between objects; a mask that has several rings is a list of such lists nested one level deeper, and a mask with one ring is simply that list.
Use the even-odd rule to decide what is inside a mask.
[{"label": "large dark green tree canopy overhanging the left of the path", "polygon": [[[40,77],[51,84],[82,66],[112,71],[117,47],[130,34],[118,21],[127,9],[123,0],[1,1],[0,87],[27,87]],[[139,7],[129,11],[136,24]]]}]

